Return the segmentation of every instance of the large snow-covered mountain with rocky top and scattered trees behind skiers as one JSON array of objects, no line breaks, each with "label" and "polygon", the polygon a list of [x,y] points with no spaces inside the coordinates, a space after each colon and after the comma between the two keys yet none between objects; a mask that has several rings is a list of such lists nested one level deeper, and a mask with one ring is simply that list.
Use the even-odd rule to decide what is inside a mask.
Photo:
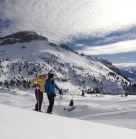
[{"label": "large snow-covered mountain with rocky top and scattered trees behind skiers", "polygon": [[107,60],[78,54],[65,44],[57,46],[35,32],[23,31],[0,38],[0,85],[29,89],[30,79],[53,72],[63,91],[134,94],[130,83]]}]

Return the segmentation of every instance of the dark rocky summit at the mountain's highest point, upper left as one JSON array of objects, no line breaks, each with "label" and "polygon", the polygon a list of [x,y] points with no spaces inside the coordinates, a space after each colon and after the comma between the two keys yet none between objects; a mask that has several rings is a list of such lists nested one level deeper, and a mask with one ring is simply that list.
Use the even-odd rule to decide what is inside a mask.
[{"label": "dark rocky summit at the mountain's highest point, upper left", "polygon": [[32,40],[46,40],[48,39],[46,37],[40,36],[37,33],[33,31],[21,31],[14,33],[12,35],[8,35],[5,37],[0,37],[0,45],[6,45],[6,44],[14,44],[16,42],[30,42]]}]

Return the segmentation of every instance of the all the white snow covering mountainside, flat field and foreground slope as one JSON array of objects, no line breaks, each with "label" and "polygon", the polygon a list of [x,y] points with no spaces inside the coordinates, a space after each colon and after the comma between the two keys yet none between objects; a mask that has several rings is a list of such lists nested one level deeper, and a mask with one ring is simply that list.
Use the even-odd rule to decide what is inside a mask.
[{"label": "all the white snow covering mountainside, flat field and foreground slope", "polygon": [[[10,82],[14,76],[14,81],[23,80],[22,76],[29,80],[35,78],[36,74],[53,70],[57,76],[56,83],[64,92],[61,100],[60,96],[57,96],[61,107],[55,101],[54,115],[47,115],[32,111],[36,103],[33,88],[27,89],[22,85],[6,88],[1,85],[1,139],[39,137],[40,139],[133,139],[136,137],[135,130],[132,130],[136,129],[136,96],[125,97],[125,84],[122,80],[126,80],[120,76],[118,80],[111,75],[108,76],[108,73],[113,71],[100,63],[99,59],[50,46],[48,41],[1,46],[0,59],[0,81]],[[28,68],[24,68],[26,63],[29,65]],[[20,73],[19,67],[21,67]],[[33,68],[37,72],[29,75],[28,72]],[[61,70],[58,70],[59,68]],[[97,82],[93,81],[94,77]],[[70,80],[62,81],[65,78]],[[97,87],[101,94],[81,96],[81,90],[94,87]],[[114,94],[114,96],[103,94]],[[71,99],[74,100],[76,109],[71,112],[63,111]],[[44,102],[43,112],[48,106],[46,94],[44,94]]]}]

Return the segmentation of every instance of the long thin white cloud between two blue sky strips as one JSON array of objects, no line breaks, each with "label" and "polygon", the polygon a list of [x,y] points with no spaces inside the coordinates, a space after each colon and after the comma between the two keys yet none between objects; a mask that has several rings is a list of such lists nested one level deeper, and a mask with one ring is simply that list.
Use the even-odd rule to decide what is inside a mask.
[{"label": "long thin white cloud between two blue sky strips", "polygon": [[100,55],[100,54],[118,54],[134,51],[136,51],[136,40],[123,41],[95,47],[86,46],[82,50],[79,50],[78,52],[87,55]]}]

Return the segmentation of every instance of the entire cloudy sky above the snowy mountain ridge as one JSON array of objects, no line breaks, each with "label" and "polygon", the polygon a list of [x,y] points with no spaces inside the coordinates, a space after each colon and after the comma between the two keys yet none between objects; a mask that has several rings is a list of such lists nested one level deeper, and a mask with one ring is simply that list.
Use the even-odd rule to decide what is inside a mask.
[{"label": "entire cloudy sky above the snowy mountain ridge", "polygon": [[135,0],[0,0],[0,36],[35,31],[113,63],[136,63]]}]

